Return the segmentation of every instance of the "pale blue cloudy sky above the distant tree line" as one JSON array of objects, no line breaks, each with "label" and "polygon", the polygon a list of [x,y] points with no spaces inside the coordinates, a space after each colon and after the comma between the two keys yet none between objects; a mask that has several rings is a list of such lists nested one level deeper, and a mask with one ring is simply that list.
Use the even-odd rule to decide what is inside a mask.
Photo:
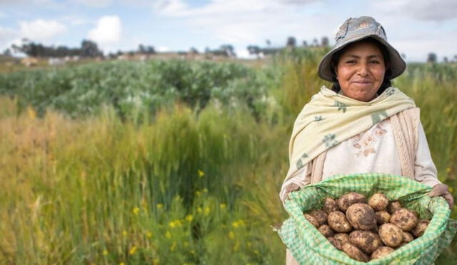
[{"label": "pale blue cloudy sky above the distant tree line", "polygon": [[95,41],[105,52],[198,51],[231,44],[284,46],[323,36],[334,44],[349,17],[373,16],[406,61],[457,54],[456,0],[0,0],[0,52],[21,39],[79,47]]}]

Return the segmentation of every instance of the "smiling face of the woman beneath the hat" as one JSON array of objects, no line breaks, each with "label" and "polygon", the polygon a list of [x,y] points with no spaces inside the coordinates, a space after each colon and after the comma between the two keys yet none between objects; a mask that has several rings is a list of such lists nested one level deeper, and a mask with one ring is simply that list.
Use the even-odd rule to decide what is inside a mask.
[{"label": "smiling face of the woman beneath the hat", "polygon": [[336,78],[344,96],[371,101],[383,84],[386,65],[381,50],[370,41],[350,44],[336,66]]}]

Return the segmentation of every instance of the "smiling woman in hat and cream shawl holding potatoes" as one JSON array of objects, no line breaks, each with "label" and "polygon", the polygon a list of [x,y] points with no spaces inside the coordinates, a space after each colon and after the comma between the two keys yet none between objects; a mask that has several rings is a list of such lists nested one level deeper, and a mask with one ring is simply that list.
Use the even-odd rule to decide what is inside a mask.
[{"label": "smiling woman in hat and cream shawl holding potatoes", "polygon": [[[452,208],[448,186],[437,179],[419,109],[391,87],[391,79],[405,69],[406,63],[373,18],[343,23],[336,45],[318,67],[321,79],[333,86],[323,86],[293,126],[282,201],[291,191],[334,174],[380,172],[431,186],[429,196],[443,196]],[[286,263],[294,262],[288,252]]]}]

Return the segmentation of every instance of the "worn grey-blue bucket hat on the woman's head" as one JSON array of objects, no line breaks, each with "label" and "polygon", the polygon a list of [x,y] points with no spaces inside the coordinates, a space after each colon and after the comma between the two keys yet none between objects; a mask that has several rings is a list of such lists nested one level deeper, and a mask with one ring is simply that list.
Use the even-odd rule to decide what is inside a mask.
[{"label": "worn grey-blue bucket hat on the woman's head", "polygon": [[387,42],[387,36],[383,26],[371,16],[360,16],[358,18],[346,19],[343,25],[340,26],[340,29],[338,29],[335,36],[335,46],[323,56],[323,59],[319,64],[319,77],[327,81],[334,81],[334,74],[331,68],[331,58],[333,54],[335,54],[336,51],[340,51],[348,44],[367,38],[376,39],[376,41],[379,41],[386,46],[389,69],[391,70],[390,79],[401,75],[403,71],[405,71],[406,63],[401,58],[400,54],[398,54],[398,51]]}]

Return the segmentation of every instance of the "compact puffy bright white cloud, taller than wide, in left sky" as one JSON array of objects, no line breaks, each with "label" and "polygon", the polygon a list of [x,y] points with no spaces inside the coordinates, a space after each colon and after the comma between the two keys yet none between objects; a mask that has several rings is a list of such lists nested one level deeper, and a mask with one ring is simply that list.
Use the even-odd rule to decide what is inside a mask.
[{"label": "compact puffy bright white cloud, taller than wide, in left sky", "polygon": [[87,37],[100,46],[115,44],[121,41],[121,19],[119,16],[102,16],[97,22],[97,26],[89,31]]}]

